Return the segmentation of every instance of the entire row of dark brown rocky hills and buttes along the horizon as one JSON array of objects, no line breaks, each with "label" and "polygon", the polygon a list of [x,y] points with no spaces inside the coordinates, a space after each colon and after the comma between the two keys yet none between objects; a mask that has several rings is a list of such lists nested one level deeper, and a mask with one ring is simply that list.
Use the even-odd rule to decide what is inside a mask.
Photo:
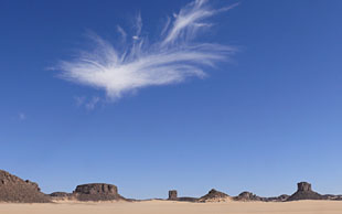
[{"label": "entire row of dark brown rocky hills and buttes along the horizon", "polygon": [[[292,195],[282,194],[275,197],[261,197],[252,192],[242,192],[239,195],[231,197],[228,194],[215,189],[209,191],[201,197],[179,197],[175,190],[169,191],[169,201],[183,202],[227,202],[227,201],[261,201],[261,202],[286,202],[298,200],[331,200],[342,201],[342,195],[319,194],[312,191],[311,184],[300,182],[298,190]],[[77,185],[73,193],[54,192],[46,195],[41,192],[39,185],[29,180],[22,180],[7,171],[0,170],[0,202],[14,203],[46,203],[60,200],[72,201],[137,201],[128,200],[118,193],[118,188],[106,183],[88,183]]]}]

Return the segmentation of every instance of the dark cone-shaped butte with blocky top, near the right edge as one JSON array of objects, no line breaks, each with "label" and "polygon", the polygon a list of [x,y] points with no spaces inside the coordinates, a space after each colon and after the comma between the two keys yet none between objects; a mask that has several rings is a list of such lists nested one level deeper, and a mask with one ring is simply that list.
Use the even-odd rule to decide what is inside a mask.
[{"label": "dark cone-shaped butte with blocky top, near the right edge", "polygon": [[295,192],[287,201],[298,201],[298,200],[324,200],[324,196],[313,192],[311,184],[308,182],[300,182],[297,184],[298,190]]}]

